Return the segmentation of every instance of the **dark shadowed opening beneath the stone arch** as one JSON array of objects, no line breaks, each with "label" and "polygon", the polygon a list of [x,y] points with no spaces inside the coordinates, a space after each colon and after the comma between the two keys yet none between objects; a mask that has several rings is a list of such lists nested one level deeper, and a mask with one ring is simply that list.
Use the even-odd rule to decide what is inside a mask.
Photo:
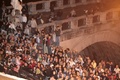
[{"label": "dark shadowed opening beneath the stone arch", "polygon": [[96,42],[83,49],[80,54],[96,60],[97,63],[104,60],[120,65],[120,46],[113,42]]}]

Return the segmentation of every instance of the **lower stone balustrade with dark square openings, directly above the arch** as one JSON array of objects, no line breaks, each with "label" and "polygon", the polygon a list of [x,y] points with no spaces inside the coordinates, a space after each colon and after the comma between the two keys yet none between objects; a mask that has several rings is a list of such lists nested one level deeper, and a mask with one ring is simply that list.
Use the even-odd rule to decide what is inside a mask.
[{"label": "lower stone balustrade with dark square openings, directly above the arch", "polygon": [[56,26],[61,26],[61,41],[64,41],[82,34],[94,33],[100,30],[101,24],[113,24],[115,21],[120,21],[120,8],[111,9],[106,12],[98,12],[94,15],[83,15],[54,21],[52,23],[39,25],[38,28],[41,30],[48,26],[53,26],[55,29]]}]

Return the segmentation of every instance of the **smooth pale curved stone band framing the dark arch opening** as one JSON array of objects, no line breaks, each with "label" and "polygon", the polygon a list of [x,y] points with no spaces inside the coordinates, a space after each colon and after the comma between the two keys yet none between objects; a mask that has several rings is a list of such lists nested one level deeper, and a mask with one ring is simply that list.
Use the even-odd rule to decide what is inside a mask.
[{"label": "smooth pale curved stone band framing the dark arch opening", "polygon": [[120,45],[120,34],[112,31],[100,31],[90,35],[83,35],[74,39],[61,42],[63,48],[70,48],[81,52],[83,49],[96,42],[108,41]]}]

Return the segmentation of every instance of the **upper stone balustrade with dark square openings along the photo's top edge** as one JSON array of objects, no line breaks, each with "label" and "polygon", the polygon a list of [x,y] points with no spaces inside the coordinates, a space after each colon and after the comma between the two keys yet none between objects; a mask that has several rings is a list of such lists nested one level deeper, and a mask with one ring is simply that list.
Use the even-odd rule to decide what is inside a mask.
[{"label": "upper stone balustrade with dark square openings along the photo's top edge", "polygon": [[[96,0],[43,0],[37,2],[27,3],[29,8],[29,14],[36,14],[38,12],[49,12],[50,6],[54,5],[54,9],[64,9],[68,7],[75,7],[77,5],[84,5],[89,3],[96,3]],[[24,4],[23,4],[24,6]],[[9,6],[8,9],[11,9],[12,6]]]}]

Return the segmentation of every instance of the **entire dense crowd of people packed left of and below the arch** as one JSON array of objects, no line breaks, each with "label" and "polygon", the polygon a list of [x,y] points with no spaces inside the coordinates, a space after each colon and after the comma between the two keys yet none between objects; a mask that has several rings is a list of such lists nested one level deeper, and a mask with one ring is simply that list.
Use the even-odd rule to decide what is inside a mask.
[{"label": "entire dense crowd of people packed left of and below the arch", "polygon": [[[3,8],[5,9],[5,4]],[[27,5],[23,8],[22,15],[12,15],[11,11],[2,10],[0,72],[28,80],[120,79],[120,68],[117,64],[104,60],[96,63],[75,50],[63,49],[60,47],[61,27],[39,30],[39,21],[44,23],[42,14],[37,19],[28,19]],[[52,9],[49,21],[53,19],[53,11]],[[75,10],[71,11],[70,16],[76,16]]]}]

